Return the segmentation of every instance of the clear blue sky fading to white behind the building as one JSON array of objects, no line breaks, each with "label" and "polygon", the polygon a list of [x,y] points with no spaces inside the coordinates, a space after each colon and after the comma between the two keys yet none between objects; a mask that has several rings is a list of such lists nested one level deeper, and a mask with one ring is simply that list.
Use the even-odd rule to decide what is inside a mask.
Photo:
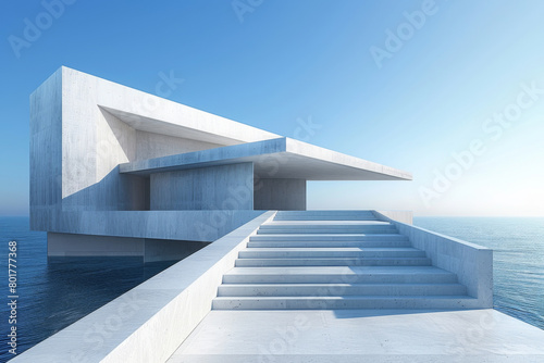
[{"label": "clear blue sky fading to white behind the building", "polygon": [[174,101],[413,174],[309,183],[309,209],[544,215],[543,18],[540,0],[5,2],[0,215],[28,213],[28,96],[61,65],[150,93],[173,74]]}]

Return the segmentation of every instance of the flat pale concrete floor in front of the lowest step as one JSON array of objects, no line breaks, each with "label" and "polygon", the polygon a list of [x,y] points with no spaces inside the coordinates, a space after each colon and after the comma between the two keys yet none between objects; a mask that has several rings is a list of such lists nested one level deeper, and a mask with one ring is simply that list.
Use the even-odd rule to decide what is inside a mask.
[{"label": "flat pale concrete floor in front of the lowest step", "polygon": [[168,362],[544,362],[544,330],[492,309],[212,311]]}]

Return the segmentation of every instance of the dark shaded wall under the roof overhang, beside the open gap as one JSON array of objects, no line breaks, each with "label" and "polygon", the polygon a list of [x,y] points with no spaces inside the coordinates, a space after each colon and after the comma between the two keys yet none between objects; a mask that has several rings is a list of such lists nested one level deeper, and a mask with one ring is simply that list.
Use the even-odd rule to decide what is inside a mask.
[{"label": "dark shaded wall under the roof overhang, beside the open gap", "polygon": [[255,210],[306,211],[305,179],[261,178],[255,182]]}]

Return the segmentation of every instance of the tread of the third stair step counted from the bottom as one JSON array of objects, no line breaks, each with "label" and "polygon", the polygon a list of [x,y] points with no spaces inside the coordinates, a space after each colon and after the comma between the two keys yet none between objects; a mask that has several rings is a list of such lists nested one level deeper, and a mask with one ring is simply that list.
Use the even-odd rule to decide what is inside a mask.
[{"label": "tread of the third stair step counted from the bottom", "polygon": [[[332,243],[331,243],[332,245]],[[411,247],[321,247],[321,248],[247,248],[239,251],[240,259],[277,258],[424,258],[425,252]]]}]

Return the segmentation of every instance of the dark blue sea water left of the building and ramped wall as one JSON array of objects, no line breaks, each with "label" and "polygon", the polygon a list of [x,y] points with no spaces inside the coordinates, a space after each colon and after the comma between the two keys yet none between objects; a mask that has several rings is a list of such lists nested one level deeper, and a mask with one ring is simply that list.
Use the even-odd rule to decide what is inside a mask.
[{"label": "dark blue sea water left of the building and ramped wall", "polygon": [[0,362],[9,352],[9,241],[17,242],[17,355],[175,262],[138,258],[47,259],[46,233],[28,217],[0,217]]}]

